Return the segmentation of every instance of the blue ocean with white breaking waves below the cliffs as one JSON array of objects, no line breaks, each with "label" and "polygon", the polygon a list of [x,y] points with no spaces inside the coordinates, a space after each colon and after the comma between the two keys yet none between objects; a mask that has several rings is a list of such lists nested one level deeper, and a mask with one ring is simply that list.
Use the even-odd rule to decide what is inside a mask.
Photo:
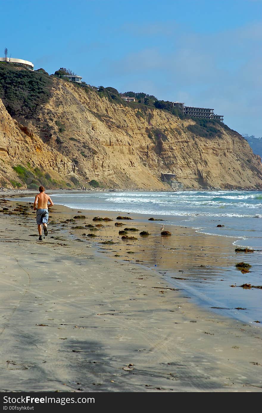
[{"label": "blue ocean with white breaking waves below the cliffs", "polygon": [[[70,208],[164,216],[166,223],[236,237],[239,246],[262,248],[261,191],[64,192],[50,194]],[[27,198],[28,199],[28,198]],[[171,219],[169,219],[169,217]],[[217,228],[214,225],[224,225]]]}]

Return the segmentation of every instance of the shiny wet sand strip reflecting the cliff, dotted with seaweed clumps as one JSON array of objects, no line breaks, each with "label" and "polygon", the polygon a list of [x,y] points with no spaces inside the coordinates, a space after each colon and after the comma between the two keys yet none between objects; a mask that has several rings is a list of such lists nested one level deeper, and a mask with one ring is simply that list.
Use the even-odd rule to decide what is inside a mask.
[{"label": "shiny wet sand strip reflecting the cliff, dotted with seaweed clumps", "polygon": [[[33,192],[33,195],[35,195],[35,192]],[[224,299],[224,297],[227,297],[228,294],[229,296],[232,296],[232,292],[230,291],[232,289],[231,287],[229,288],[231,284],[240,286],[242,284],[249,282],[252,285],[258,285],[259,283],[261,283],[259,276],[259,266],[261,257],[257,256],[257,254],[259,254],[257,252],[255,254],[252,254],[252,256],[250,256],[250,254],[248,254],[249,256],[247,254],[236,254],[236,245],[241,245],[241,240],[239,239],[239,237],[233,235],[227,236],[206,233],[205,231],[203,231],[203,229],[191,226],[192,223],[190,222],[181,224],[181,222],[179,222],[181,217],[179,216],[170,217],[159,214],[156,217],[153,214],[152,216],[155,217],[155,221],[149,222],[148,218],[149,216],[151,216],[150,214],[131,212],[127,213],[120,209],[117,211],[111,211],[106,209],[81,209],[81,211],[77,211],[76,208],[67,207],[63,204],[56,205],[60,209],[63,209],[63,211],[67,211],[67,214],[69,211],[74,211],[74,214],[77,214],[77,212],[84,211],[84,213],[88,216],[108,216],[113,220],[115,220],[117,215],[127,215],[129,217],[132,216],[132,219],[139,223],[139,231],[149,230],[149,232],[151,232],[151,229],[154,228],[153,233],[151,234],[153,236],[153,240],[151,240],[151,237],[149,237],[149,239],[144,237],[144,244],[146,243],[146,241],[150,240],[150,242],[147,242],[146,250],[141,250],[142,247],[139,244],[139,239],[141,241],[142,237],[139,236],[137,242],[131,241],[131,244],[129,245],[132,245],[132,248],[129,251],[126,251],[125,255],[123,255],[123,249],[120,252],[118,250],[119,247],[115,245],[115,252],[118,254],[117,260],[129,261],[135,264],[139,263],[140,266],[143,264],[149,270],[157,270],[161,274],[161,276],[164,276],[165,274],[165,280],[171,284],[174,283],[174,279],[179,280],[179,278],[181,278],[181,275],[183,275],[183,279],[185,281],[182,283],[180,282],[179,288],[184,290],[185,294],[193,294],[193,297],[191,298],[195,304],[203,307],[206,310],[212,309],[214,313],[234,318],[235,320],[243,323],[253,324],[254,320],[259,320],[260,322],[262,321],[261,309],[258,304],[260,302],[260,290],[252,289],[253,305],[251,307],[250,302],[248,301],[249,297],[246,296],[247,294],[243,295],[242,292],[239,291],[242,289],[239,288],[237,289],[238,292],[236,293],[235,291],[233,294],[233,296],[235,296],[236,298],[233,298],[231,300],[229,299],[229,302],[227,302],[228,299]],[[171,221],[169,221],[170,218],[172,218]],[[118,222],[124,222],[125,226],[128,227],[132,226],[133,221],[130,220]],[[79,222],[79,224],[81,224],[81,222]],[[157,237],[157,233],[160,230],[159,225],[162,224],[165,225],[165,229],[170,230],[172,232],[172,237]],[[113,241],[119,241],[120,237],[118,236],[118,230],[124,229],[125,226],[123,226],[123,228],[113,228],[113,231],[111,230],[111,232],[107,231],[109,232],[109,234],[105,234],[105,238],[103,240],[107,241],[108,237],[110,237],[110,239],[112,239]],[[90,241],[90,238],[83,237],[83,231],[85,230],[83,226],[79,229],[72,228],[73,227],[71,227],[70,234],[73,234],[75,237],[80,237],[83,242]],[[177,235],[176,233],[176,231],[178,231],[179,228],[183,228],[183,231],[186,231],[183,232],[182,237]],[[86,230],[86,235],[87,232],[90,231]],[[100,234],[100,231],[95,234]],[[128,235],[137,236],[137,234],[139,234],[139,232],[130,233]],[[183,240],[184,236],[189,237],[194,241],[190,241],[189,243],[185,244]],[[107,254],[109,253],[109,251],[105,250],[110,250],[112,248],[110,248],[110,245],[107,246],[108,248],[102,248],[102,245],[99,245],[99,237],[100,235],[92,238],[92,240],[93,247],[99,249],[99,251],[97,251],[97,254],[100,254],[101,256],[101,252]],[[159,239],[161,239],[161,244],[163,247],[162,250],[160,249],[160,245],[157,245],[160,243]],[[163,245],[163,240],[165,240],[165,245]],[[233,240],[234,242],[232,242]],[[179,245],[179,248],[173,248],[174,246],[177,247],[177,241],[181,245]],[[188,247],[188,245],[190,248]],[[104,249],[104,251],[102,251],[102,249]],[[154,254],[152,253],[153,249],[155,250]],[[172,251],[172,254],[170,254],[169,250],[173,249],[177,250],[177,252],[175,253],[175,251]],[[174,262],[172,261],[173,258],[175,258],[174,255],[176,254],[179,254],[179,262],[176,263],[178,265],[174,264]],[[212,259],[208,259],[208,257],[212,257]],[[107,258],[109,258],[108,254]],[[240,271],[237,271],[235,268],[235,263],[243,260],[251,261],[253,264],[253,271],[251,277],[252,282],[251,280],[246,280],[246,276],[243,277]],[[177,261],[177,259],[175,259],[175,261]],[[255,276],[254,270],[256,273]],[[224,286],[222,286],[221,289],[221,281],[224,281],[226,285],[226,290]],[[224,297],[222,297],[223,294]],[[254,306],[255,302],[257,303],[256,306]],[[245,311],[239,311],[238,308],[243,309]],[[259,323],[257,325],[258,327],[260,327]]]}]

